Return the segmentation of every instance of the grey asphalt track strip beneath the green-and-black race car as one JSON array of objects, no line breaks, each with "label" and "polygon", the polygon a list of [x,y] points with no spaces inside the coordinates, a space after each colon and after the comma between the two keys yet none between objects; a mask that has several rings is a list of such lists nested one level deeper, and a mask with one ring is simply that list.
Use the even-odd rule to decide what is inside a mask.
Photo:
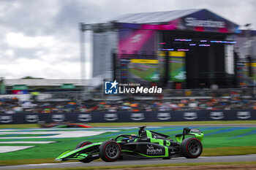
[{"label": "grey asphalt track strip beneath the green-and-black race car", "polygon": [[43,163],[18,166],[0,166],[0,169],[50,169],[50,168],[69,168],[69,167],[91,167],[91,166],[136,166],[136,165],[156,165],[165,163],[214,163],[214,162],[244,162],[256,161],[256,154],[253,155],[231,155],[231,156],[211,156],[199,157],[196,159],[171,158],[170,160],[149,159],[135,161],[116,161],[106,163],[104,161],[93,161],[91,163],[67,162],[67,163]]}]

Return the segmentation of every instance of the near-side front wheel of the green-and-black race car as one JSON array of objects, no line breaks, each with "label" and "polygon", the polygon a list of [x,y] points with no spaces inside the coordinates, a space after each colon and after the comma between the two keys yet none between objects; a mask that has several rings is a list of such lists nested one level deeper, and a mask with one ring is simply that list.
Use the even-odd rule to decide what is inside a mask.
[{"label": "near-side front wheel of the green-and-black race car", "polygon": [[121,156],[121,147],[115,141],[106,141],[99,146],[99,157],[105,162],[113,162]]}]

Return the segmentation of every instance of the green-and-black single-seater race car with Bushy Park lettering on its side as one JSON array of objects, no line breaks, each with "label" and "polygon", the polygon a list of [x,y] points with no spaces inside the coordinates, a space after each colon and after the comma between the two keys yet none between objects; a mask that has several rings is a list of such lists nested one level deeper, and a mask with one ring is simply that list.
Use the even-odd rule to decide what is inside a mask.
[{"label": "green-and-black single-seater race car with Bushy Park lettering on its side", "polygon": [[146,130],[146,126],[139,128],[138,135],[121,134],[106,142],[80,142],[75,150],[62,152],[56,161],[89,163],[99,158],[106,162],[139,158],[197,158],[203,151],[203,132],[197,128],[184,128],[182,134],[176,135],[177,142],[169,139],[168,135]]}]

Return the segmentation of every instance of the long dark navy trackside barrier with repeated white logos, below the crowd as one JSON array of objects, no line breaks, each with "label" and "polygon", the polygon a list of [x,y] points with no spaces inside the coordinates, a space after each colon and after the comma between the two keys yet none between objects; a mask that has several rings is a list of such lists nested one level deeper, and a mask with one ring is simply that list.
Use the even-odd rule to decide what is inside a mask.
[{"label": "long dark navy trackside barrier with repeated white logos, below the crowd", "polygon": [[256,120],[256,109],[186,110],[167,112],[65,112],[0,114],[0,124],[45,121],[74,123],[176,122],[198,120]]}]

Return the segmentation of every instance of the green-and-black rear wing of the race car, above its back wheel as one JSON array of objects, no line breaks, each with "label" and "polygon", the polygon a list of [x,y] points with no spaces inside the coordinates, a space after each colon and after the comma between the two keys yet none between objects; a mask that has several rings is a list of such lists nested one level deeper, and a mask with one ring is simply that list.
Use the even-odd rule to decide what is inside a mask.
[{"label": "green-and-black rear wing of the race car, above its back wheel", "polygon": [[203,140],[203,132],[197,128],[184,128],[182,134],[177,134],[175,137],[177,142],[181,143],[188,136],[193,136],[200,141]]}]

